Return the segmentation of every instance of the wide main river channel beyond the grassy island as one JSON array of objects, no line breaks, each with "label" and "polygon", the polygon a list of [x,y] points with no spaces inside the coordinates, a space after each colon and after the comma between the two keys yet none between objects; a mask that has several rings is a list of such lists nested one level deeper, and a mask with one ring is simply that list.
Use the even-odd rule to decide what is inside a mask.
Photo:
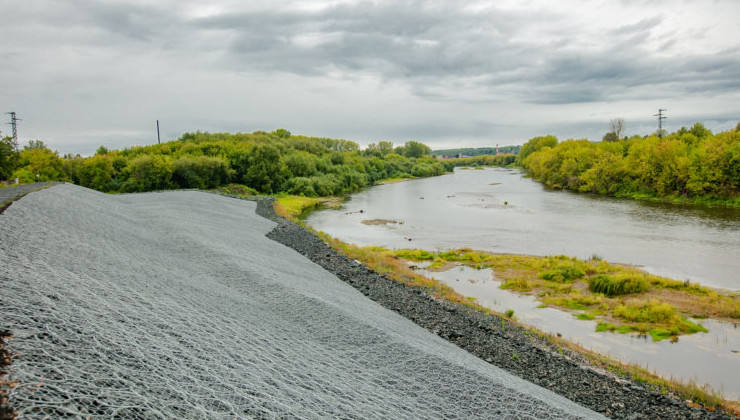
[{"label": "wide main river channel beyond the grassy island", "polygon": [[[403,223],[361,223],[369,219]],[[358,245],[598,255],[678,280],[740,290],[740,210],[549,191],[516,170],[458,169],[381,185],[307,222]]]}]

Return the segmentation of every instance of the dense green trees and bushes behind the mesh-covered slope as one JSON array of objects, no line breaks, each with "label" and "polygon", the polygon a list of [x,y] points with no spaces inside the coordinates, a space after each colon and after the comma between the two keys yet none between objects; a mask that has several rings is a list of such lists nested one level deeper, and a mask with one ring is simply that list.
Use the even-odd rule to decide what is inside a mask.
[{"label": "dense green trees and bushes behind the mesh-covered slope", "polygon": [[[5,145],[10,147],[5,147]],[[41,141],[18,153],[0,143],[0,178],[21,182],[69,181],[103,192],[214,188],[238,183],[264,194],[341,195],[389,178],[441,175],[454,163],[431,149],[388,141],[360,150],[357,143],[267,133],[185,133],[179,139],[123,150],[100,147],[90,157],[60,157]]]}]

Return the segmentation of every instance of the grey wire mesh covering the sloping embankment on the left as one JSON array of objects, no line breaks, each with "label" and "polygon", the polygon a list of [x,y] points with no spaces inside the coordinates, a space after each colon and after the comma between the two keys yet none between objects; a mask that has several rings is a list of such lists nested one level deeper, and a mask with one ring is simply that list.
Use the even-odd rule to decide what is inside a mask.
[{"label": "grey wire mesh covering the sloping embankment on the left", "polygon": [[19,417],[598,417],[265,238],[254,207],[60,185],[0,216]]}]

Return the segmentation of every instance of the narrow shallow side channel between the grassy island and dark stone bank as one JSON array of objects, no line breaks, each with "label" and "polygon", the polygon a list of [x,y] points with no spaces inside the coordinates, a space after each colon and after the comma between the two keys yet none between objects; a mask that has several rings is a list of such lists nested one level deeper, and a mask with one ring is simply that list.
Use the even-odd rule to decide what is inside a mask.
[{"label": "narrow shallow side channel between the grassy island and dark stone bank", "polygon": [[676,343],[659,342],[634,334],[597,333],[596,321],[580,321],[572,313],[538,308],[532,296],[500,289],[491,269],[457,266],[443,272],[420,270],[464,296],[475,297],[483,306],[514,317],[539,330],[561,334],[568,341],[623,362],[636,363],[664,377],[694,380],[723,391],[726,398],[740,401],[740,327],[737,324],[699,320],[708,333],[682,336]]}]

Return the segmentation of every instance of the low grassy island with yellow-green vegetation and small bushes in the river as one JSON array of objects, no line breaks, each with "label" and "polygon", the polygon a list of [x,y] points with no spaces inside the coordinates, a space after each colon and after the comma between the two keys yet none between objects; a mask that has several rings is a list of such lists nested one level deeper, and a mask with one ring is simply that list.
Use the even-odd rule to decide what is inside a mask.
[{"label": "low grassy island with yellow-green vegetation and small bushes in the river", "polygon": [[468,248],[428,252],[388,251],[410,261],[429,261],[429,269],[464,264],[490,268],[501,288],[535,296],[543,306],[598,320],[597,331],[636,332],[654,340],[677,339],[706,331],[688,318],[740,321],[740,298],[696,283],[648,274],[631,266],[563,255],[492,254]]}]

